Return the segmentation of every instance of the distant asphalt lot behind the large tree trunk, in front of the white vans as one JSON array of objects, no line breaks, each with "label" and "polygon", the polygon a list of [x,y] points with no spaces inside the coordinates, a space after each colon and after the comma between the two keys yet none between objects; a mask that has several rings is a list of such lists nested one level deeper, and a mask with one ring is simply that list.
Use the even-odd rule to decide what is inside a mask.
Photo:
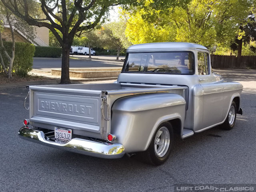
[{"label": "distant asphalt lot behind the large tree trunk, in front of the white vans", "polygon": [[[50,72],[52,68],[61,68],[61,58],[33,58],[33,59],[34,59],[33,66],[32,66],[33,69]],[[122,67],[123,62],[93,60],[93,59],[92,60],[70,59],[69,65],[70,65],[70,68]]]}]

